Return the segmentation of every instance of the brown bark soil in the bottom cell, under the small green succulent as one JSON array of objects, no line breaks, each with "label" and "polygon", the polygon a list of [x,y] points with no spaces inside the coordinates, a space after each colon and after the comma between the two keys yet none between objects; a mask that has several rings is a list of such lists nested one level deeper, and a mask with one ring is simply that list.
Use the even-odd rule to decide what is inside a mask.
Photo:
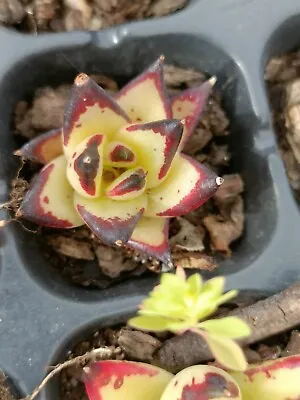
[{"label": "brown bark soil in the bottom cell, under the small green succulent", "polygon": [[[135,331],[127,327],[120,329],[103,329],[91,333],[84,341],[71,349],[68,359],[85,354],[95,348],[108,346],[115,353],[114,359],[133,360],[151,363],[162,346],[169,340],[169,336],[155,336],[152,334]],[[179,337],[178,337],[179,338]],[[177,341],[176,352],[185,352],[184,340]],[[197,354],[199,348],[189,348],[188,352]],[[245,349],[249,363],[264,360],[274,360],[300,353],[300,332],[293,330],[280,336],[275,336],[262,343],[252,345]],[[97,358],[95,358],[95,361]],[[170,361],[172,363],[172,360]],[[201,363],[203,364],[203,362]],[[214,364],[214,363],[210,363]],[[86,364],[66,368],[60,374],[60,400],[88,400],[82,383],[82,367]],[[177,371],[171,371],[176,373]]]}]

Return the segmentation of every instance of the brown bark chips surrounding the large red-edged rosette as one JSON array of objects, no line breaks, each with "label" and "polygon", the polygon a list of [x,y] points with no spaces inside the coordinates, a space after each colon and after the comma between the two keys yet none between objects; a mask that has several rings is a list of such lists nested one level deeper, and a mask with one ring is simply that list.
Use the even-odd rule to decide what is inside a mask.
[{"label": "brown bark chips surrounding the large red-edged rosette", "polygon": [[[205,79],[200,72],[174,66],[165,67],[165,77],[171,93],[198,85]],[[118,90],[118,82],[111,78],[101,75],[93,78],[106,90]],[[62,124],[69,90],[68,84],[43,87],[34,93],[31,101],[22,100],[17,104],[14,133],[19,146]],[[227,145],[229,134],[230,122],[218,94],[213,93],[184,152],[214,169],[225,182],[204,206],[171,222],[173,260],[185,268],[213,270],[216,268],[214,255],[230,256],[231,244],[243,233],[244,183],[238,173],[227,173],[231,159]],[[27,181],[38,168],[26,163],[19,178],[12,182],[11,208],[14,211],[27,190]],[[105,288],[128,276],[140,275],[147,267],[160,269],[156,261],[143,254],[103,245],[86,227],[65,231],[37,229],[36,237],[53,268],[75,284]]]}]

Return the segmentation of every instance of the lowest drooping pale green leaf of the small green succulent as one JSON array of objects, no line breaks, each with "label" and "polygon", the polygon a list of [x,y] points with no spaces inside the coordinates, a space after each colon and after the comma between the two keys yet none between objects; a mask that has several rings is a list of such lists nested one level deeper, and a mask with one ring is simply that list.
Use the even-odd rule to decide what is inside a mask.
[{"label": "lowest drooping pale green leaf of the small green succulent", "polygon": [[243,350],[231,339],[212,333],[202,335],[216,360],[225,368],[232,371],[245,371],[247,361]]}]

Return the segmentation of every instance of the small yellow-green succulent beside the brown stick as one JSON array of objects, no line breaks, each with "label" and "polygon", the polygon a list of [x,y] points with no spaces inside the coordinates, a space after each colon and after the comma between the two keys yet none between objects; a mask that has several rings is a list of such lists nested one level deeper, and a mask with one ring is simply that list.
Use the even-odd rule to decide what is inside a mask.
[{"label": "small yellow-green succulent beside the brown stick", "polygon": [[151,332],[193,331],[205,339],[220,364],[230,370],[245,370],[244,353],[233,339],[248,336],[249,326],[237,317],[205,320],[237,295],[236,290],[223,294],[224,284],[224,277],[204,283],[198,273],[186,279],[183,269],[178,268],[176,274],[162,274],[160,284],[143,301],[138,316],[128,323]]}]

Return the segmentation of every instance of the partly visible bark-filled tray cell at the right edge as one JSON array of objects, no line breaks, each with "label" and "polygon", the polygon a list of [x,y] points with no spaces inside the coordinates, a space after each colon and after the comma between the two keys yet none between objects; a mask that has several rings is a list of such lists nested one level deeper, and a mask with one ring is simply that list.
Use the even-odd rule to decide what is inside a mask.
[{"label": "partly visible bark-filled tray cell at the right edge", "polygon": [[[294,138],[294,144],[297,144],[297,135],[293,136],[293,131],[297,130],[297,107],[298,101],[296,100],[298,86],[291,85],[291,83],[300,79],[299,66],[296,65],[298,61],[297,57],[293,58],[293,55],[289,53],[297,52],[300,47],[299,41],[299,28],[300,15],[294,15],[282,22],[277,29],[269,37],[267,44],[264,48],[263,53],[263,67],[266,71],[265,80],[268,83],[269,104],[271,111],[273,111],[273,124],[275,133],[278,136],[279,145],[282,148],[286,157],[283,157],[288,177],[291,182],[291,190],[294,191],[296,200],[298,199],[299,207],[299,178],[297,171],[300,170],[297,165],[299,164],[296,157],[293,156],[291,139]],[[282,59],[282,63],[279,64],[277,57],[287,56]],[[270,63],[270,60],[276,58],[276,65]],[[271,70],[273,71],[271,73]],[[288,89],[288,86],[290,89]],[[293,90],[291,90],[293,87]],[[287,89],[287,92],[286,92]],[[292,94],[286,95],[291,92]],[[290,99],[290,100],[288,100]],[[290,106],[287,107],[287,102]],[[294,108],[295,107],[295,108]],[[292,109],[293,108],[293,109]],[[290,116],[290,121],[288,120]],[[289,121],[290,127],[287,124]],[[295,146],[297,148],[297,145]],[[289,152],[291,150],[291,152]],[[294,160],[294,161],[293,161]]]}]

